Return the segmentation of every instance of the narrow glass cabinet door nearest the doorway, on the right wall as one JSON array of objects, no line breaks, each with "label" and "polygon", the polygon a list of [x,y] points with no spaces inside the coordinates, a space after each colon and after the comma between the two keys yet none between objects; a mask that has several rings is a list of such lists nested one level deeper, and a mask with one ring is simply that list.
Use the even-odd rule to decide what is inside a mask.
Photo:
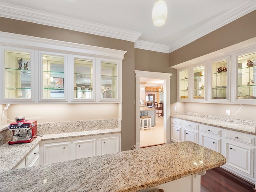
[{"label": "narrow glass cabinet door nearest the doorway, on the right wall", "polygon": [[188,70],[183,70],[179,72],[179,84],[180,84],[179,98],[181,100],[184,100],[184,99],[188,100],[188,89],[189,89],[188,79],[189,79]]}]

